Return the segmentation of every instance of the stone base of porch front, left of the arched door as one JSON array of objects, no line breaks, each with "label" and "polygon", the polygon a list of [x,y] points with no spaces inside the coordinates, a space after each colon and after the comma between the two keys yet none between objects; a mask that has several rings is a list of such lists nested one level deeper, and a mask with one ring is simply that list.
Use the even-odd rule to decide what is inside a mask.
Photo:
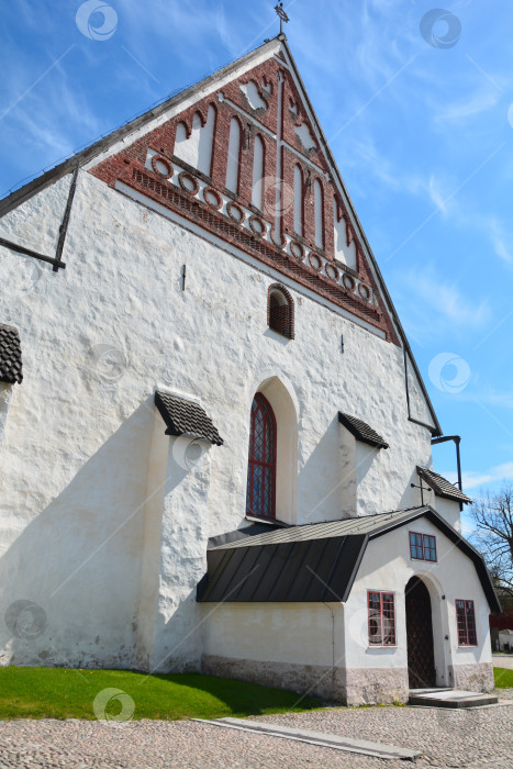
[{"label": "stone base of porch front, left of the arched door", "polygon": [[406,668],[353,668],[346,670],[346,704],[375,705],[394,700],[408,702]]}]

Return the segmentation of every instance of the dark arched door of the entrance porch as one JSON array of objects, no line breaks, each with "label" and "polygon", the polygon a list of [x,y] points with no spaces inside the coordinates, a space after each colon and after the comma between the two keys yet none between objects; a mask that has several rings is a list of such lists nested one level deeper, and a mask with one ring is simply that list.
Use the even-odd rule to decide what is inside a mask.
[{"label": "dark arched door of the entrance porch", "polygon": [[406,584],[408,676],[411,689],[436,686],[430,592],[419,577]]}]

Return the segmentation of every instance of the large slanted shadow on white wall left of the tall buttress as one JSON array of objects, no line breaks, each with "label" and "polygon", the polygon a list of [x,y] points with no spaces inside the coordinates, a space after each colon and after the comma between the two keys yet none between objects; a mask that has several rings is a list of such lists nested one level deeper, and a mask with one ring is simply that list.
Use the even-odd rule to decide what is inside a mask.
[{"label": "large slanted shadow on white wall left of the tall buttress", "polygon": [[0,664],[133,666],[154,424],[149,398],[0,559]]}]

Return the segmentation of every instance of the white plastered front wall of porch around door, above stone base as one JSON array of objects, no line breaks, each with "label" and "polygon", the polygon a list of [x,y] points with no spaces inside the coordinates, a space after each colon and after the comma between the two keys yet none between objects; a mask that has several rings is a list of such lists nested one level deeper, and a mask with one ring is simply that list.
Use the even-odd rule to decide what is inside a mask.
[{"label": "white plastered front wall of porch around door, above stone base", "polygon": [[[410,558],[410,531],[436,537],[436,562]],[[420,577],[430,591],[437,686],[451,684],[449,666],[491,662],[489,608],[476,568],[436,526],[427,519],[420,519],[371,540],[367,547],[357,581],[345,605],[347,666],[356,669],[408,667],[403,597],[405,586],[414,576]],[[369,647],[368,590],[395,593],[397,647]],[[476,647],[458,646],[456,599],[475,601]]]}]

